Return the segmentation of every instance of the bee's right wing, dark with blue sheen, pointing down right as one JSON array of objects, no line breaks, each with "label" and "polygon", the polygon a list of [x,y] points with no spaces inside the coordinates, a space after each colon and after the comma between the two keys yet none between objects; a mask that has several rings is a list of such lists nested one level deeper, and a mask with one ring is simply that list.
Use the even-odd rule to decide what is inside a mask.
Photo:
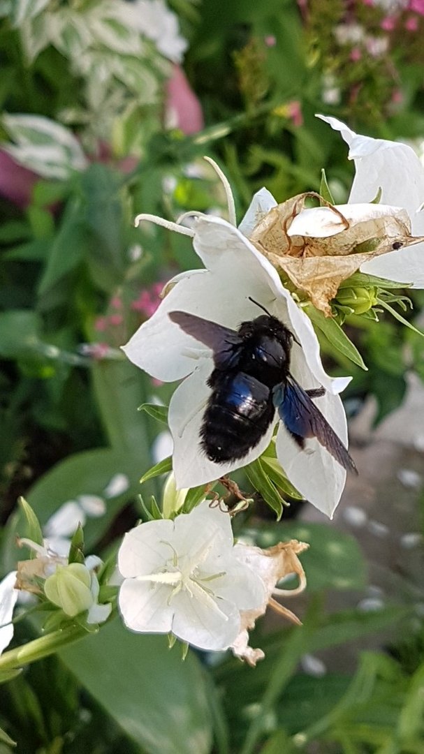
[{"label": "bee's right wing, dark with blue sheen, pointing down right", "polygon": [[311,400],[312,397],[322,395],[320,388],[305,391],[289,376],[285,384],[278,385],[274,389],[273,400],[278,408],[278,413],[284,421],[284,426],[292,435],[296,443],[303,448],[306,437],[316,437],[318,443],[336,458],[343,468],[356,471],[355,463],[343,445],[340,437],[328,424],[327,419],[321,414],[318,406]]}]

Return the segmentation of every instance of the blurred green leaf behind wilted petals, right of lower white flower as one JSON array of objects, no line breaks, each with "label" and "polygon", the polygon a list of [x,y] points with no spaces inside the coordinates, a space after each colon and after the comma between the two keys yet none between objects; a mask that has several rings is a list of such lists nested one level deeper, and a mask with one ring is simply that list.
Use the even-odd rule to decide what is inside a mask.
[{"label": "blurred green leaf behind wilted petals, right of lower white flower", "polygon": [[250,530],[259,547],[298,539],[309,544],[301,560],[308,577],[308,591],[363,589],[366,584],[364,556],[355,537],[324,523],[287,521]]}]

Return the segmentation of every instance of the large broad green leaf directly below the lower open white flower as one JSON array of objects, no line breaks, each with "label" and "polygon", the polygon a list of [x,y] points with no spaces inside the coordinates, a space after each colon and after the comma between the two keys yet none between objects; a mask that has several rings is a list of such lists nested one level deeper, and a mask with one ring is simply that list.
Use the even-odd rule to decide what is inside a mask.
[{"label": "large broad green leaf directly below the lower open white flower", "polygon": [[209,754],[207,691],[194,652],[182,663],[166,636],[131,633],[115,620],[60,658],[146,754]]}]

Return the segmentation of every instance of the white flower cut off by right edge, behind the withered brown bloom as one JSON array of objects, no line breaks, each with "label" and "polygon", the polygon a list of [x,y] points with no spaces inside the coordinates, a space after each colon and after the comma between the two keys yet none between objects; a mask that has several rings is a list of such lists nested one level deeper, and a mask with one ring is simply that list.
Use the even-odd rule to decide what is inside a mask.
[{"label": "white flower cut off by right edge, behind the withered brown bloom", "polygon": [[[349,203],[372,201],[381,188],[381,201],[404,207],[413,235],[424,235],[424,213],[419,211],[424,201],[424,169],[413,149],[400,142],[361,136],[336,118],[318,118],[340,131],[349,145],[349,159],[355,160]],[[422,288],[424,244],[378,256],[362,265],[361,271]]]}]

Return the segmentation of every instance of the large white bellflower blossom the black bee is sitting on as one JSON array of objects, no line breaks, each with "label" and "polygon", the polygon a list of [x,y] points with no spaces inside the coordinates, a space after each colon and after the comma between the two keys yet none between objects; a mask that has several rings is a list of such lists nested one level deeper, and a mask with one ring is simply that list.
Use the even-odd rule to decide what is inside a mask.
[{"label": "large white bellflower blossom the black bee is sitting on", "polygon": [[[257,220],[275,201],[266,189],[258,192],[240,227],[236,228],[229,185],[222,173],[219,174],[227,190],[230,222],[197,213],[194,229],[191,229],[156,216],[140,215],[137,218],[138,221],[151,220],[192,237],[195,252],[204,265],[203,269],[185,272],[171,280],[167,287],[169,292],[158,309],[123,349],[133,363],[156,379],[163,382],[183,379],[171,398],[168,415],[174,440],[174,474],[179,489],[216,480],[259,458],[272,439],[278,416],[275,415],[266,434],[244,458],[220,464],[210,461],[201,452],[199,431],[210,396],[207,378],[214,369],[213,354],[171,322],[170,311],[187,311],[236,329],[242,321],[252,320],[260,314],[250,299],[266,307],[296,337],[290,360],[294,379],[304,389],[319,385],[325,388],[317,406],[340,440],[347,443],[346,415],[339,393],[350,378],[331,379],[324,371],[318,339],[309,317],[284,288],[272,264],[247,238]],[[290,482],[319,510],[331,516],[345,485],[346,470],[315,438],[306,440],[306,452],[300,450],[281,421],[276,450]]]}]

